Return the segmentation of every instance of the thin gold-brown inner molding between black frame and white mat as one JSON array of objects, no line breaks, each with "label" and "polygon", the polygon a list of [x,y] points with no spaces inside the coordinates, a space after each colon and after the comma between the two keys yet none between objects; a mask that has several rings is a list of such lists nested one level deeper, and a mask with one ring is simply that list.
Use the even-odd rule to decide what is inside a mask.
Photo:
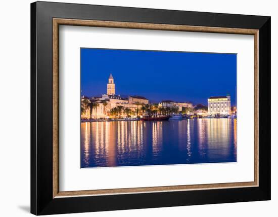
[{"label": "thin gold-brown inner molding between black frame and white mat", "polygon": [[[161,186],[143,188],[124,188],[124,189],[103,189],[86,191],[59,191],[59,25],[91,26],[91,27],[110,27],[110,28],[132,28],[168,31],[193,31],[211,33],[230,33],[230,34],[249,34],[254,35],[254,182],[240,183],[218,183],[203,185],[180,185],[180,186]],[[239,187],[258,186],[258,29],[222,28],[205,26],[187,26],[153,23],[135,22],[116,22],[116,21],[97,21],[97,20],[78,20],[53,18],[53,198],[73,197],[73,196],[98,196],[111,194],[133,194],[151,192],[171,192],[204,189],[223,189]]]}]

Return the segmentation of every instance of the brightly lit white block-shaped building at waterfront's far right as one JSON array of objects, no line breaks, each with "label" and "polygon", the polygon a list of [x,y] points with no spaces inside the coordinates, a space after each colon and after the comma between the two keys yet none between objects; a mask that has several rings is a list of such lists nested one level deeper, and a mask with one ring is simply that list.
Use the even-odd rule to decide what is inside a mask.
[{"label": "brightly lit white block-shaped building at waterfront's far right", "polygon": [[230,95],[208,98],[208,115],[230,115]]}]

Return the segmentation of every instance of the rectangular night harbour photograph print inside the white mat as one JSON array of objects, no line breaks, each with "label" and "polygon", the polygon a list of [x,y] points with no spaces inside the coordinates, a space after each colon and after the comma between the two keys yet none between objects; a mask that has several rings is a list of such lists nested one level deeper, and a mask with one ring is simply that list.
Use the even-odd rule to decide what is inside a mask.
[{"label": "rectangular night harbour photograph print inside the white mat", "polygon": [[237,162],[237,54],[80,48],[80,167]]}]

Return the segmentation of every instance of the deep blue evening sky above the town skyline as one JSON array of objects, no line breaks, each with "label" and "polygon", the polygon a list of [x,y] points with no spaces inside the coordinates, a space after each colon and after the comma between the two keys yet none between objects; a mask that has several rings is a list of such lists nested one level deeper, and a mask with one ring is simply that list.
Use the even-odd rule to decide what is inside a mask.
[{"label": "deep blue evening sky above the town skyline", "polygon": [[207,105],[229,93],[236,104],[236,54],[81,48],[82,95],[106,93],[110,73],[120,95]]}]

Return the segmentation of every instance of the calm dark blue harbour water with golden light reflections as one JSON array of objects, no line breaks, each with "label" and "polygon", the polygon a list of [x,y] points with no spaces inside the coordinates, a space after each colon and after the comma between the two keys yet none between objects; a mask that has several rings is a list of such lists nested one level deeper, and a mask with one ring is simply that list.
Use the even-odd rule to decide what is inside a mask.
[{"label": "calm dark blue harbour water with golden light reflections", "polygon": [[81,167],[237,161],[235,119],[81,123]]}]

